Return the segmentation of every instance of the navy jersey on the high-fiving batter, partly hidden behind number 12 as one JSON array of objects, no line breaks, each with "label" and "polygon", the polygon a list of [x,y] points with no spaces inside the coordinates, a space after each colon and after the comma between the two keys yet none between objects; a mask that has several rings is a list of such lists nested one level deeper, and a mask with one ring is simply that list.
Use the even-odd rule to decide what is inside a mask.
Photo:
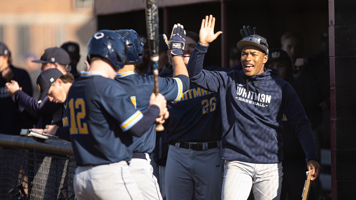
[{"label": "navy jersey on the high-fiving batter, partly hidden behind number 12", "polygon": [[[132,71],[116,74],[119,81],[135,108],[145,112],[149,106],[150,96],[154,86],[152,75],[138,75]],[[189,78],[186,75],[177,75],[175,78],[158,77],[159,93],[168,101],[178,101],[182,93],[187,90]],[[156,143],[156,125],[141,137],[133,136],[133,152],[152,153]]]}]

